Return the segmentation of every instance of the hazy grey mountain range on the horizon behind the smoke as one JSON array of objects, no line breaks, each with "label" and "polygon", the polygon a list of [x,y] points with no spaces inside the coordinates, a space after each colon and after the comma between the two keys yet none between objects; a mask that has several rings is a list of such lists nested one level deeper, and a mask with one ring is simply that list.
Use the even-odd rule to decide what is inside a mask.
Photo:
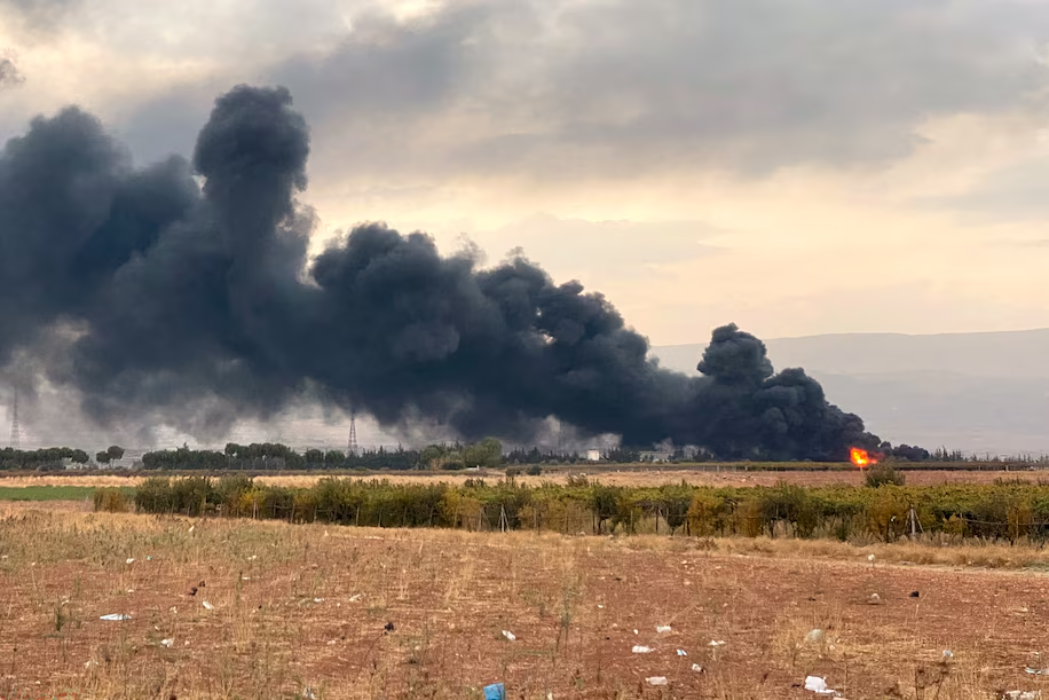
[{"label": "hazy grey mountain range on the horizon behind the smoke", "polygon": [[[929,336],[838,334],[765,341],[775,368],[804,367],[828,399],[894,445],[1049,454],[1049,328]],[[651,348],[698,374],[705,345]]]}]

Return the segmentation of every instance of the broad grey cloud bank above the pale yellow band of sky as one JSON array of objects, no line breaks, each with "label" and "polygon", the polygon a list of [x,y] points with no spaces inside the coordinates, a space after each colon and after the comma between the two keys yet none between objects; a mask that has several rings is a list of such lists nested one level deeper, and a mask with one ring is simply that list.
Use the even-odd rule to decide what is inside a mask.
[{"label": "broad grey cloud bank above the pale yellow band of sky", "polygon": [[[926,120],[1036,110],[1047,86],[1049,9],[1019,1],[472,0],[348,24],[209,81],[286,86],[313,168],[371,179],[881,166]],[[172,104],[188,125],[210,100],[183,85],[132,121]]]}]

